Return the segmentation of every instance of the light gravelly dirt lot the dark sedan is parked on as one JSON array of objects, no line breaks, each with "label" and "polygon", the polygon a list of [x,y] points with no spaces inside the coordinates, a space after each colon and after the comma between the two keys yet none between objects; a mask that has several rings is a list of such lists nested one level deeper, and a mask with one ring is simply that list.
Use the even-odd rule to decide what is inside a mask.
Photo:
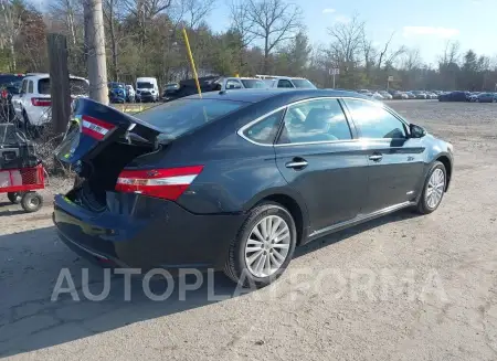
[{"label": "light gravelly dirt lot the dark sedan is parked on", "polygon": [[[391,105],[454,145],[455,176],[437,212],[400,212],[315,242],[275,285],[239,297],[215,275],[215,295],[224,300],[202,287],[186,300],[152,301],[135,280],[125,301],[123,277],[114,277],[110,295],[89,301],[82,268],[89,267],[94,293],[103,288],[102,270],[57,240],[49,197],[35,214],[2,204],[0,355],[497,360],[497,105]],[[64,267],[81,301],[50,300]],[[156,282],[154,289],[162,286]]]}]

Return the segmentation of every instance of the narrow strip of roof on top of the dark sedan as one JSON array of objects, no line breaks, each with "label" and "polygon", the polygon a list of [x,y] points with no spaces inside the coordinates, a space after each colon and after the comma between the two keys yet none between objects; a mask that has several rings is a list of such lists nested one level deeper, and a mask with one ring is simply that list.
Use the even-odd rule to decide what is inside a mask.
[{"label": "narrow strip of roof on top of the dark sedan", "polygon": [[[257,103],[268,98],[282,98],[282,99],[286,98],[288,102],[298,102],[314,97],[353,97],[371,100],[371,98],[356,92],[328,91],[328,89],[254,88],[254,89],[234,89],[234,91],[202,93],[203,99],[225,99],[245,103]],[[187,98],[199,98],[199,95],[198,94],[190,95]]]}]

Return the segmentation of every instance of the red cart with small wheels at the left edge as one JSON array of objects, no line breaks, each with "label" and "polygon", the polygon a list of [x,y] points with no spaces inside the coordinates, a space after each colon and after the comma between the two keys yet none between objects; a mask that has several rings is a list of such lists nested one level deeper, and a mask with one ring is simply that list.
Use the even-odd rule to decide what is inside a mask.
[{"label": "red cart with small wheels at the left edge", "polygon": [[36,192],[45,188],[45,170],[42,163],[30,168],[0,170],[0,193],[9,201],[21,203],[27,212],[36,212],[43,205],[43,197]]}]

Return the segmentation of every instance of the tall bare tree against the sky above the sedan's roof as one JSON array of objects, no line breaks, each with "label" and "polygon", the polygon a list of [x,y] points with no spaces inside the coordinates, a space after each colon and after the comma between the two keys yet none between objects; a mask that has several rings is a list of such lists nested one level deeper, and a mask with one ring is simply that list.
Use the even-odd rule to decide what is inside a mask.
[{"label": "tall bare tree against the sky above the sedan's roof", "polygon": [[248,30],[264,43],[264,72],[268,72],[271,52],[293,39],[302,29],[302,9],[284,0],[247,0]]}]

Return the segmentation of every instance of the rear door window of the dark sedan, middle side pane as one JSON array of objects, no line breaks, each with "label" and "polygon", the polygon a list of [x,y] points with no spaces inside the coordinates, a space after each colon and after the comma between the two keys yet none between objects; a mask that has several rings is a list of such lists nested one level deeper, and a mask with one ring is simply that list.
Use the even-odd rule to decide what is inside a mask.
[{"label": "rear door window of the dark sedan, middle side pane", "polygon": [[349,124],[337,99],[295,104],[285,114],[279,144],[351,139]]}]

